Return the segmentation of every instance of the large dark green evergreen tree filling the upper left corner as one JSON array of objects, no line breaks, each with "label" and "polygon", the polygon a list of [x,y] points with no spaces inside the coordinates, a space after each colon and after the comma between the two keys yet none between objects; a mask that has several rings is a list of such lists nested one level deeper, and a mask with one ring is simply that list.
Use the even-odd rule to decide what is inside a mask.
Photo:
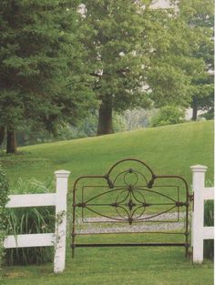
[{"label": "large dark green evergreen tree filling the upper left corner", "polygon": [[[15,128],[75,125],[93,100],[78,40],[77,1],[0,2],[0,143],[15,152]],[[91,100],[92,99],[92,100]]]}]

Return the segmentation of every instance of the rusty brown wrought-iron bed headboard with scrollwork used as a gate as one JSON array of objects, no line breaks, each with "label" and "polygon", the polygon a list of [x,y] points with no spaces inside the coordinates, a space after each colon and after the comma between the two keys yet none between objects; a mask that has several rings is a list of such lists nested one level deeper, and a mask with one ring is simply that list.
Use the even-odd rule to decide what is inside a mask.
[{"label": "rusty brown wrought-iron bed headboard with scrollwork used as a gate", "polygon": [[[136,162],[138,164],[141,165],[141,167],[147,168],[148,172],[150,174],[150,179],[148,180],[141,172],[135,170],[134,168],[128,168],[126,170],[120,171],[118,173],[118,175],[113,179],[111,179],[111,173],[113,172],[113,170],[118,167],[118,165],[120,165],[121,163],[124,162]],[[136,176],[136,181],[133,184],[128,184],[127,182],[127,176],[128,174],[133,174],[134,177]],[[124,177],[123,177],[124,176]],[[142,186],[138,186],[138,176],[140,176],[141,178],[143,178],[146,181],[146,185],[144,187]],[[123,177],[123,181],[124,181],[124,185],[123,186],[117,186],[117,181],[119,177]],[[78,190],[77,186],[78,183],[80,181],[83,181],[84,179],[93,179],[93,178],[97,178],[97,179],[103,179],[106,181],[106,185],[107,185],[107,191],[105,192],[101,192],[99,194],[97,194],[96,196],[93,196],[91,198],[88,198],[87,200],[84,199],[84,195],[83,195],[83,188],[82,188],[82,200],[81,202],[77,202],[77,198],[76,198],[76,192]],[[153,189],[154,183],[155,181],[157,181],[159,178],[170,178],[170,179],[179,179],[184,186],[185,192],[186,192],[186,197],[185,200],[181,201],[179,200],[179,196],[177,199],[174,198],[170,198],[169,196],[165,195],[165,194],[161,194],[159,192],[157,192],[156,190]],[[171,187],[172,185],[164,185],[164,186],[160,186],[160,187]],[[87,187],[87,185],[85,185],[84,187]],[[98,186],[94,186],[95,188],[97,188]],[[100,187],[100,186],[99,186]],[[118,198],[114,201],[110,201],[108,203],[103,203],[103,204],[94,204],[93,200],[96,198],[99,198],[103,195],[106,195],[108,193],[112,193],[114,191],[118,191],[119,195]],[[164,198],[168,198],[170,200],[169,203],[148,203],[148,201],[146,200],[146,198],[144,197],[142,192],[151,192],[151,193],[156,193],[159,194],[160,196],[163,196]],[[140,200],[140,198],[137,198],[136,194],[138,193],[138,195],[140,195],[140,198],[142,198]],[[123,196],[122,198],[120,198],[120,195]],[[184,247],[186,249],[186,257],[189,255],[189,201],[191,200],[191,195],[189,195],[189,188],[188,188],[188,183],[187,181],[180,177],[180,176],[172,176],[172,175],[164,175],[164,176],[158,176],[156,175],[151,168],[148,167],[148,165],[136,158],[126,158],[126,159],[122,159],[119,160],[117,163],[115,163],[108,171],[107,174],[104,176],[82,176],[77,178],[77,180],[74,183],[74,188],[73,188],[73,221],[72,221],[72,242],[71,242],[71,248],[72,248],[72,256],[74,257],[74,251],[76,248],[83,248],[83,247],[142,247],[142,246],[176,246],[176,247]],[[145,217],[143,215],[145,209],[147,209],[148,207],[151,206],[155,206],[155,205],[167,205],[170,206],[169,209],[161,211],[157,214],[154,214],[152,216],[149,217]],[[108,214],[102,214],[99,213],[97,210],[92,209],[90,207],[95,207],[95,206],[99,206],[99,207],[111,207],[111,208],[115,208],[116,209],[116,213],[118,214],[117,217],[109,217]],[[132,225],[133,223],[138,223],[138,222],[153,222],[154,219],[164,213],[168,213],[169,210],[171,209],[178,209],[178,213],[179,213],[179,208],[185,208],[185,227],[184,227],[184,231],[180,234],[183,234],[185,236],[185,240],[184,242],[141,242],[141,243],[76,243],[76,237],[78,235],[83,235],[83,233],[78,233],[76,231],[76,210],[77,209],[82,209],[82,213],[84,211],[84,209],[88,209],[92,212],[94,212],[94,214],[97,214],[98,217],[103,217],[107,220],[103,221],[103,222],[110,222],[110,220],[112,220],[113,222],[128,222],[129,225]],[[121,215],[120,210],[123,210],[126,213],[125,215]],[[137,215],[138,210],[141,209],[141,213]],[[82,217],[83,218],[83,217]],[[179,218],[178,218],[179,221]],[[162,222],[162,220],[160,221]],[[167,221],[165,220],[165,222],[172,222],[172,221]],[[138,233],[145,233],[146,231],[141,231]],[[102,232],[100,234],[111,234],[112,232]],[[116,232],[114,232],[116,233]],[[118,233],[130,233],[129,232],[118,232]],[[131,233],[134,233],[133,231]],[[136,232],[135,232],[136,233]],[[169,232],[160,232],[160,231],[150,231],[147,233],[165,233],[165,234],[169,234]],[[85,233],[86,235],[89,234],[96,234],[96,233]],[[172,234],[172,233],[171,233]],[[175,233],[177,234],[177,233]]]}]

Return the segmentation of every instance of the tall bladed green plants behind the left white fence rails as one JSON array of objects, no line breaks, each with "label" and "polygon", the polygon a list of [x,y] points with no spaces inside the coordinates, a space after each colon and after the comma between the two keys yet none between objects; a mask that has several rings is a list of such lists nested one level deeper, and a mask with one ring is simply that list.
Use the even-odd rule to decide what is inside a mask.
[{"label": "tall bladed green plants behind the left white fence rails", "polygon": [[[22,194],[25,192],[41,193],[50,192],[51,183],[43,184],[36,180],[23,181],[19,179],[11,192]],[[9,209],[7,235],[27,233],[48,233],[55,229],[55,208],[17,208]],[[53,247],[19,248],[5,250],[5,264],[41,264],[53,260]]]}]

